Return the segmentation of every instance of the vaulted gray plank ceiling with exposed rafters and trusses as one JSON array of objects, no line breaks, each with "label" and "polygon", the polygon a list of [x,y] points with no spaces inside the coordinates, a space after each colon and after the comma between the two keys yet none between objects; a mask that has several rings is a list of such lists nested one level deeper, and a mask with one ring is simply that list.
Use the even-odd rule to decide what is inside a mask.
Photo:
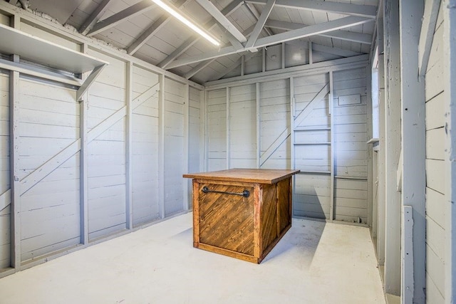
[{"label": "vaulted gray plank ceiling with exposed rafters and trusses", "polygon": [[300,64],[296,58],[309,48],[331,58],[369,53],[378,5],[378,0],[163,1],[221,46],[200,38],[151,0],[9,0],[197,83],[235,75],[264,48],[280,49],[287,65]]}]

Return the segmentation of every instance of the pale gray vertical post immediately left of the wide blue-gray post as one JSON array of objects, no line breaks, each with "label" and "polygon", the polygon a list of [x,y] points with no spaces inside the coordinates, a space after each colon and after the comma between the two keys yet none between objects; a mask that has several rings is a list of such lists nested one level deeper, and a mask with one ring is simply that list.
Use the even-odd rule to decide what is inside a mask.
[{"label": "pale gray vertical post immediately left of the wide blue-gray post", "polygon": [[[400,37],[399,0],[385,0],[385,293],[400,295]],[[415,74],[416,77],[417,74]],[[382,149],[380,147],[380,149]]]}]

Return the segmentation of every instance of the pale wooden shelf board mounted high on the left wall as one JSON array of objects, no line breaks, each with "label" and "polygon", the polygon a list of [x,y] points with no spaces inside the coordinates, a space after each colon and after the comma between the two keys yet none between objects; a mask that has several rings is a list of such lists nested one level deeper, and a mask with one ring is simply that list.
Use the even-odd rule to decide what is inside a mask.
[{"label": "pale wooden shelf board mounted high on the left wall", "polygon": [[108,64],[95,57],[0,24],[0,53],[19,55],[28,61],[71,73],[86,73]]}]

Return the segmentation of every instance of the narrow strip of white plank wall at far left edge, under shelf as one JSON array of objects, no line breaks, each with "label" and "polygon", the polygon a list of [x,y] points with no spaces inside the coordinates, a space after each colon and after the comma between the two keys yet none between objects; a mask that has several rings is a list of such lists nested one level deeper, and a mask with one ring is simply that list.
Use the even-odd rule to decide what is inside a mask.
[{"label": "narrow strip of white plank wall at far left edge, under shelf", "polygon": [[0,269],[10,265],[9,75],[0,70]]}]

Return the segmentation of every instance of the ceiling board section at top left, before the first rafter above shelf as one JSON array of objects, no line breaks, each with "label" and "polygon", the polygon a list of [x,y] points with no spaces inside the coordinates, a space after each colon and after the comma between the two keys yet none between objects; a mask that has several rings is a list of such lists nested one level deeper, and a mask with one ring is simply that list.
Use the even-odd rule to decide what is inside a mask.
[{"label": "ceiling board section at top left, before the first rafter above shelf", "polygon": [[60,23],[66,23],[73,11],[75,11],[83,0],[61,1],[61,0],[32,0],[29,1],[29,8],[41,11],[57,19]]}]

